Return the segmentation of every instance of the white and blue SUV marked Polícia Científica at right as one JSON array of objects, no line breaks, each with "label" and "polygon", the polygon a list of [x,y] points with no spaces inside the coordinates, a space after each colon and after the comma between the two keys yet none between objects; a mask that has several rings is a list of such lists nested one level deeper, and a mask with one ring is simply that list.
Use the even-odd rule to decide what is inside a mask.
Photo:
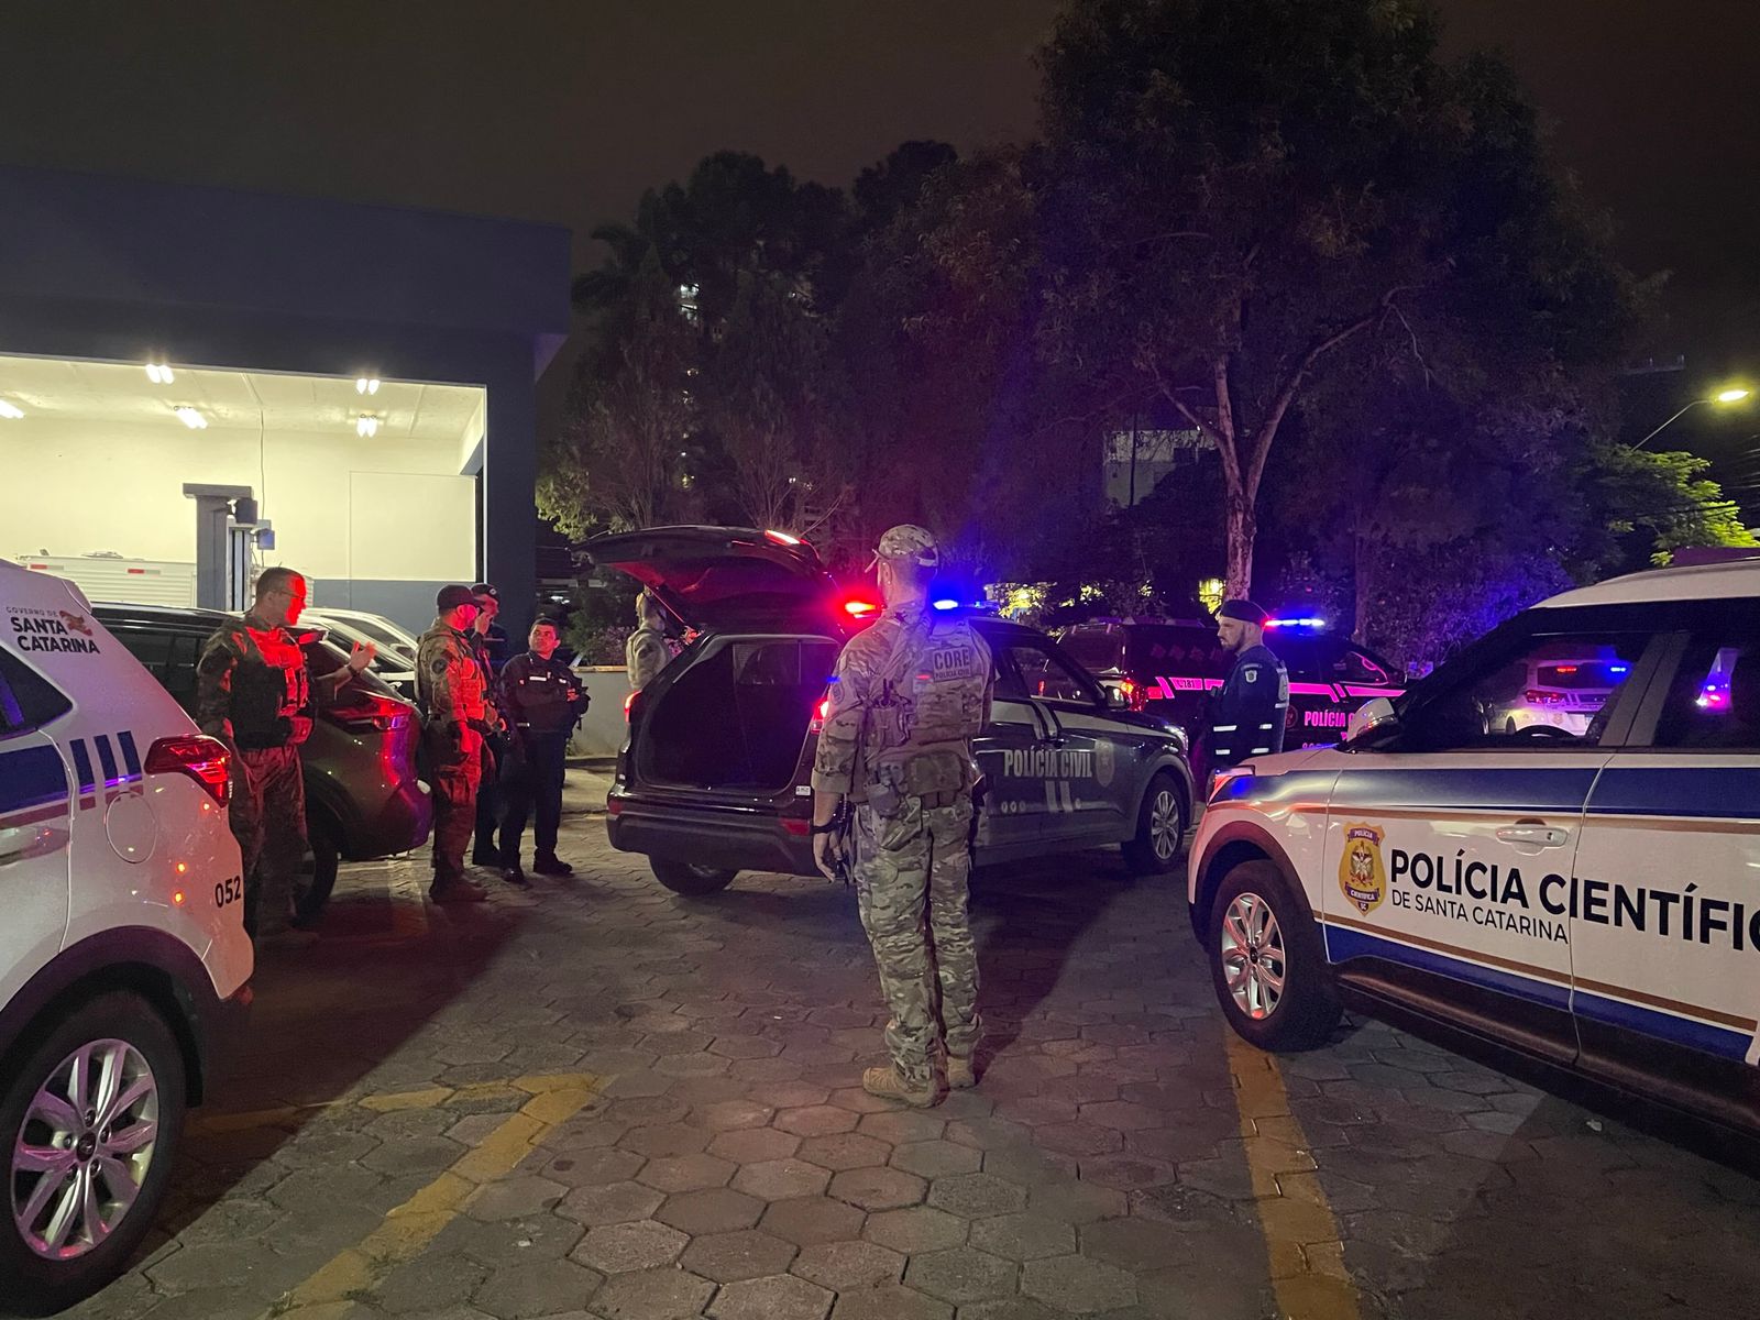
[{"label": "white and blue SUV marked Pol\u00edcia Cient\u00edfica at right", "polygon": [[[1559,655],[1593,718],[1498,718]],[[1554,597],[1359,725],[1216,781],[1190,901],[1236,1031],[1368,1001],[1760,1126],[1760,560]]]}]

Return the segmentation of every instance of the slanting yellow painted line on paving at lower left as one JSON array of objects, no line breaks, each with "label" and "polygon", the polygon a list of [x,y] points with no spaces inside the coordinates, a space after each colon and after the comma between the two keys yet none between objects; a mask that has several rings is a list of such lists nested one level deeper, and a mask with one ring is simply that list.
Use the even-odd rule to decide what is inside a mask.
[{"label": "slanting yellow painted line on paving at lower left", "polygon": [[600,1081],[591,1074],[576,1072],[517,1077],[510,1086],[530,1096],[517,1112],[509,1114],[495,1132],[459,1156],[433,1183],[391,1209],[385,1221],[364,1241],[331,1257],[304,1283],[264,1311],[262,1320],[271,1316],[329,1320],[341,1315],[348,1302],[370,1294],[387,1272],[419,1257],[477,1192],[510,1174],[551,1128],[574,1118],[598,1091]]}]

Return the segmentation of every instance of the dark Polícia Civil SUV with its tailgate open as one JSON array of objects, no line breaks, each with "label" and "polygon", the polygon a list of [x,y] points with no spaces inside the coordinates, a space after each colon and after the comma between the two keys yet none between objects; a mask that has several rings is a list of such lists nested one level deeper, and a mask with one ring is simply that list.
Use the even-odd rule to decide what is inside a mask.
[{"label": "dark Pol\u00edcia Civil SUV with its tailgate open", "polygon": [[[825,683],[871,607],[847,611],[813,549],[780,533],[653,528],[586,549],[697,630],[630,702],[605,803],[612,847],[646,854],[681,894],[741,869],[817,875],[808,776]],[[979,864],[1123,845],[1133,869],[1170,871],[1192,818],[1183,734],[1119,709],[1044,634],[972,623],[996,660],[975,741]]]}]

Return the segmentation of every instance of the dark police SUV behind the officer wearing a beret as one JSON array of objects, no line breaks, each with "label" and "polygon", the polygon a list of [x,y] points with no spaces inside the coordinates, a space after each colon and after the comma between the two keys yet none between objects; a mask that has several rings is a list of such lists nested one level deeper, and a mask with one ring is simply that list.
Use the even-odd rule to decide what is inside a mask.
[{"label": "dark police SUV behind the officer wearing a beret", "polygon": [[[1061,630],[1058,641],[1126,706],[1156,711],[1193,736],[1206,727],[1207,699],[1228,676],[1228,656],[1207,620],[1096,620]],[[1343,741],[1359,706],[1404,692],[1389,660],[1308,621],[1274,621],[1265,646],[1290,671],[1283,737],[1290,752]]]}]

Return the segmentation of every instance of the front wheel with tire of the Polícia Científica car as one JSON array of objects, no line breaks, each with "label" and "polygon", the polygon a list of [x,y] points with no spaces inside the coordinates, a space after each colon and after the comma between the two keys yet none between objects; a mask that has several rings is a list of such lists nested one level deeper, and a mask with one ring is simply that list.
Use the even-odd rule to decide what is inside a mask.
[{"label": "front wheel with tire of the Pol\u00edcia Cient\u00edfica car", "polygon": [[1272,1052],[1327,1042],[1341,1008],[1320,928],[1274,864],[1228,871],[1204,929],[1216,998],[1243,1040]]}]

